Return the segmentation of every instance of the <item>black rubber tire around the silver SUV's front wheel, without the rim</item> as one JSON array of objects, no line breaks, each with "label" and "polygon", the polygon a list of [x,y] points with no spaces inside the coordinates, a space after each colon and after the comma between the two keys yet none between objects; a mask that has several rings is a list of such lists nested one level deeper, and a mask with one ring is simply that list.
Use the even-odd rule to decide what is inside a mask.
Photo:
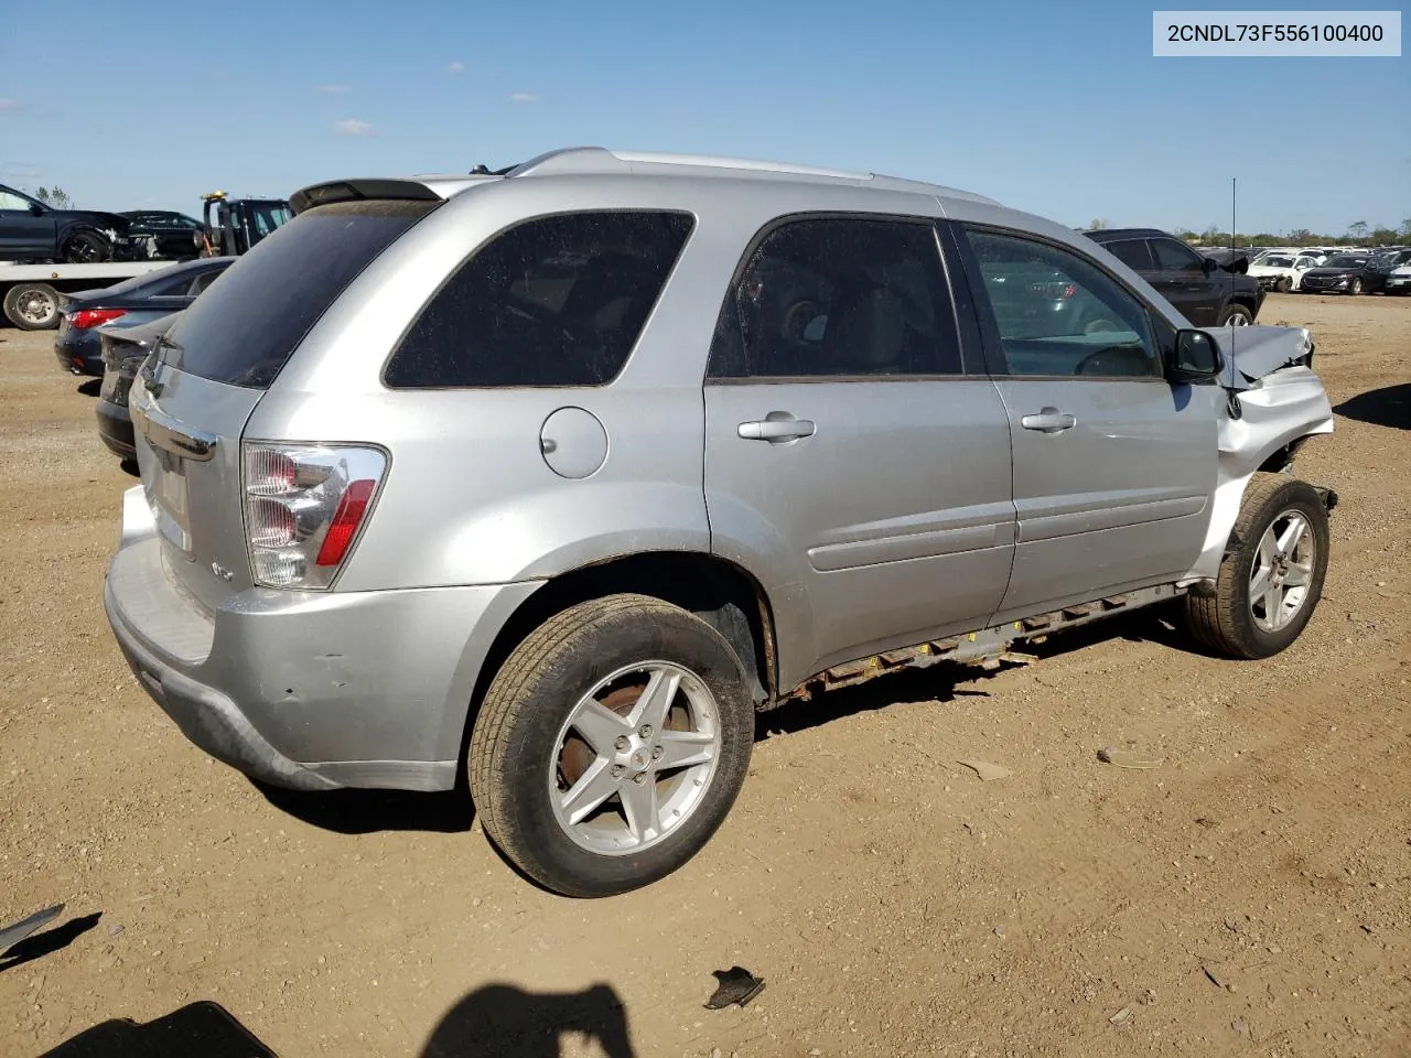
[{"label": "black rubber tire around the silver SUV's front wheel, without the rim", "polygon": [[[1266,631],[1256,622],[1250,604],[1252,573],[1264,532],[1290,512],[1307,519],[1312,536],[1308,590],[1287,625]],[[1318,492],[1287,474],[1256,474],[1245,490],[1213,594],[1185,597],[1187,626],[1213,652],[1246,660],[1270,657],[1298,639],[1322,597],[1326,573],[1328,512]]]}]

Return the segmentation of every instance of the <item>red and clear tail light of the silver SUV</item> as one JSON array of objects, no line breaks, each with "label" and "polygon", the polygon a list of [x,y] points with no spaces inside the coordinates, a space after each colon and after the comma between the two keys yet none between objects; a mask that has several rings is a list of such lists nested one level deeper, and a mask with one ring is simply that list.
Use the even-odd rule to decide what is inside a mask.
[{"label": "red and clear tail light of the silver SUV", "polygon": [[347,561],[387,470],[361,444],[246,442],[246,543],[257,584],[327,590]]}]

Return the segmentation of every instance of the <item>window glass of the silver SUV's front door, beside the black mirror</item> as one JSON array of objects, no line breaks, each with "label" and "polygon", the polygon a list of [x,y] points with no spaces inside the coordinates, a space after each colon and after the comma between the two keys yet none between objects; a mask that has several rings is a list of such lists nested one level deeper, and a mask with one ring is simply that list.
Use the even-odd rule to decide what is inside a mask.
[{"label": "window glass of the silver SUV's front door, beside the black mirror", "polygon": [[1163,377],[1146,306],[1096,264],[1020,236],[965,238],[1007,374]]}]

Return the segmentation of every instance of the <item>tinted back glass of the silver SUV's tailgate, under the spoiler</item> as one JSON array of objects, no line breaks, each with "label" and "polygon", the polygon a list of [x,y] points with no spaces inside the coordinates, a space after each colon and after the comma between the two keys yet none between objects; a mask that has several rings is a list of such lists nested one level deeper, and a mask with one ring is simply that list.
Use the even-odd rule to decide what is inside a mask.
[{"label": "tinted back glass of the silver SUV's tailgate, under the spoiler", "polygon": [[162,340],[162,363],[265,389],[303,336],[435,202],[340,202],[301,213],[227,268]]}]

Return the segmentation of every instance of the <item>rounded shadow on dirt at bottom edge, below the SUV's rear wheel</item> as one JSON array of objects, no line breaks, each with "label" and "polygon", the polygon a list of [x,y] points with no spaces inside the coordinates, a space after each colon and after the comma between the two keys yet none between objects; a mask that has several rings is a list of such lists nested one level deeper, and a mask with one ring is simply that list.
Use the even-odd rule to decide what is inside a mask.
[{"label": "rounded shadow on dirt at bottom edge, below the SUV's rear wheel", "polygon": [[446,1013],[420,1058],[559,1058],[564,1035],[593,1041],[607,1058],[636,1058],[626,1010],[608,985],[547,993],[487,985]]}]

